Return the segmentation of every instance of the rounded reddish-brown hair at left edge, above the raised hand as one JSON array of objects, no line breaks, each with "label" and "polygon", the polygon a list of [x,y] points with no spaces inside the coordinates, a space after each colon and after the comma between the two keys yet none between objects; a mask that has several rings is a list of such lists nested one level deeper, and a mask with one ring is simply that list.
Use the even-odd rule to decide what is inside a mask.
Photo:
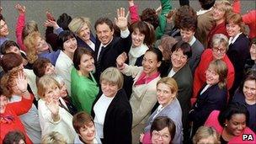
[{"label": "rounded reddish-brown hair at left edge, above the raised hand", "polygon": [[3,67],[4,72],[12,70],[14,67],[19,67],[22,64],[22,56],[19,54],[10,52],[1,58],[0,65]]}]

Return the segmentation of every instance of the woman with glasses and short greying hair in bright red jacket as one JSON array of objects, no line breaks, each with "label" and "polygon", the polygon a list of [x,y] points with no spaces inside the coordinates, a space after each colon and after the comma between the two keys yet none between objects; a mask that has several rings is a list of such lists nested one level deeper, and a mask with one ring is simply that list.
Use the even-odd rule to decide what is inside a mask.
[{"label": "woman with glasses and short greying hair in bright red jacket", "polygon": [[213,60],[222,60],[227,65],[227,89],[232,88],[232,83],[234,81],[234,67],[232,62],[228,59],[226,52],[228,47],[227,36],[222,34],[214,35],[212,38],[212,49],[206,49],[202,56],[198,67],[195,69],[195,77],[193,83],[193,95],[191,98],[191,103],[194,104],[200,88],[206,82],[205,71],[209,64]]}]

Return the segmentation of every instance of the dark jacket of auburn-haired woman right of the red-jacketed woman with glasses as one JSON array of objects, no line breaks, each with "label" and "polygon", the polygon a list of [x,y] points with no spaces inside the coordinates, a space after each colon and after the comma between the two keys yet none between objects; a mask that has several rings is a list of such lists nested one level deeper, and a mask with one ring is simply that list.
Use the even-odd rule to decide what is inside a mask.
[{"label": "dark jacket of auburn-haired woman right of the red-jacketed woman with glasses", "polygon": [[235,68],[235,80],[230,89],[230,95],[233,96],[235,90],[238,88],[243,79],[243,68],[245,66],[246,60],[250,56],[249,52],[250,42],[246,35],[241,34],[238,36],[237,40],[229,45],[227,56],[232,62]]}]

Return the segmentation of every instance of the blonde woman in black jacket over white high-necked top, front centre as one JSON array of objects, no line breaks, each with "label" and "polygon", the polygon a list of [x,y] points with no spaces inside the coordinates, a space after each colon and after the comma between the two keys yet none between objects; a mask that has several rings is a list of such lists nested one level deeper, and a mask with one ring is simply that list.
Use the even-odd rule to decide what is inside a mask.
[{"label": "blonde woman in black jacket over white high-necked top, front centre", "polygon": [[92,116],[102,143],[131,143],[131,105],[122,89],[124,78],[109,67],[99,79],[101,90],[93,103]]}]

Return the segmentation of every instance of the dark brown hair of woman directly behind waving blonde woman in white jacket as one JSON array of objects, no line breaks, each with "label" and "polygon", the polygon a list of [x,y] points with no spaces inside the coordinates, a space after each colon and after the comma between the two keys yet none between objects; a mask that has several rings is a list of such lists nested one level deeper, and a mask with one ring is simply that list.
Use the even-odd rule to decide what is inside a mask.
[{"label": "dark brown hair of woman directly behind waving blonde woman in white jacket", "polygon": [[51,61],[47,58],[40,57],[35,60],[33,64],[33,72],[36,77],[43,77],[45,75],[46,66],[51,63]]}]

